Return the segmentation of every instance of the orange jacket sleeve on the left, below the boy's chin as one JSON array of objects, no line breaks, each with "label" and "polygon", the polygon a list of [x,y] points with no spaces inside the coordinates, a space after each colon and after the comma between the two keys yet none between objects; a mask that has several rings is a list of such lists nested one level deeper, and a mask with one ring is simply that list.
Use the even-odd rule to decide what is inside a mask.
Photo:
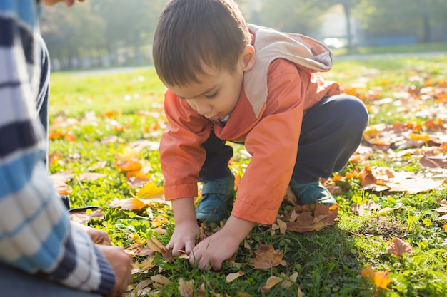
[{"label": "orange jacket sleeve on the left, below the boy's chin", "polygon": [[170,90],[165,94],[164,112],[168,123],[161,137],[160,161],[165,199],[197,197],[199,171],[206,157],[202,144],[210,135],[211,123]]}]

